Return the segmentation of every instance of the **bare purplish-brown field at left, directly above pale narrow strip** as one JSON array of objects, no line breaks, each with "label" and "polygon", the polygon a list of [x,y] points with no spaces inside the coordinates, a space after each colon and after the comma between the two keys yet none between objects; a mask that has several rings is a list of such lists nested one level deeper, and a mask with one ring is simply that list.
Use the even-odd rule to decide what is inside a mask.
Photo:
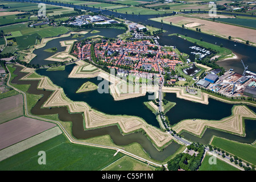
[{"label": "bare purplish-brown field at left, directly above pale narrow strip", "polygon": [[23,116],[2,123],[0,125],[0,150],[55,126],[56,124],[53,123]]}]

